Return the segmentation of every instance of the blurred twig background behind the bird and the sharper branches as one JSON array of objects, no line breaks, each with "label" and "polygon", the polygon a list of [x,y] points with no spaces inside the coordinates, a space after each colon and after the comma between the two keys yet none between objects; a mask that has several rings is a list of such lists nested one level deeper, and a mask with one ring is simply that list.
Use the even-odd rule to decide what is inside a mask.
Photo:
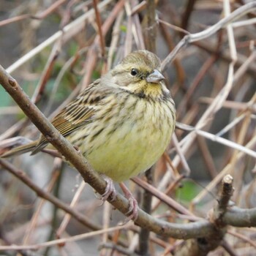
[{"label": "blurred twig background behind the bird and the sharper branches", "polygon": [[[0,64],[49,118],[130,51],[148,48],[154,40],[157,56],[164,60],[185,34],[203,31],[227,15],[222,1],[154,1],[156,18],[152,29],[148,26],[148,1],[105,0],[97,1],[102,23],[99,30],[93,2],[96,1],[1,0]],[[249,1],[230,1],[231,11],[246,2]],[[75,23],[81,17],[80,22]],[[206,218],[207,211],[214,206],[219,181],[225,173],[234,178],[236,205],[255,207],[255,158],[228,143],[255,151],[256,31],[255,24],[249,23],[250,18],[255,18],[255,12],[243,16],[244,26],[233,27],[233,37],[226,29],[221,29],[182,48],[165,70],[167,85],[176,102],[178,122],[192,127],[198,125],[212,136],[208,139],[177,127],[179,143],[170,142],[165,156],[154,166],[152,183],[198,217]],[[154,36],[148,37],[151,29]],[[100,33],[104,43],[99,39]],[[230,51],[230,44],[235,46],[235,53]],[[37,48],[38,45],[42,48]],[[24,56],[29,56],[28,60],[24,61]],[[234,58],[229,87],[227,78]],[[227,96],[219,99],[219,105],[207,115],[214,99],[225,94],[223,88],[227,89]],[[0,140],[20,136],[16,143],[24,143],[24,138],[39,137],[37,129],[1,86],[0,124]],[[227,145],[213,141],[214,135],[225,138]],[[177,145],[181,148],[179,154]],[[11,146],[15,143],[0,144],[0,152]],[[182,157],[178,157],[180,154]],[[115,226],[124,221],[124,216],[108,203],[101,206],[93,189],[83,184],[79,173],[61,159],[39,153],[24,154],[8,161],[26,173],[32,184],[62,202],[70,204],[78,197],[75,211],[88,217],[93,225]],[[143,175],[140,178],[145,179]],[[127,185],[140,203],[143,189],[132,181],[127,181]],[[0,172],[0,191],[1,245],[38,244],[92,229],[74,218],[65,225],[64,211],[42,200],[28,183],[20,181],[4,167]],[[156,198],[152,208],[154,217],[170,222],[186,219]],[[244,228],[239,232],[255,238],[255,229]],[[92,236],[63,247],[48,246],[36,252],[6,250],[2,255],[141,255],[136,243],[131,247],[132,241],[136,241],[135,233],[116,231],[111,238]],[[150,242],[148,255],[171,255],[167,248],[176,246],[177,241],[159,239],[162,244]],[[237,255],[256,252],[255,247],[235,236],[228,235],[228,239]],[[126,251],[113,249],[113,244]],[[214,253],[225,255],[222,247]]]}]

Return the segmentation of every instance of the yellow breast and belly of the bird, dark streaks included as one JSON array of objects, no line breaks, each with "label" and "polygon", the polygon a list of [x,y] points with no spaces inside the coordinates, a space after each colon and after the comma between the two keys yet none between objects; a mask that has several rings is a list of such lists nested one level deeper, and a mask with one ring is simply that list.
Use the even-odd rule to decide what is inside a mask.
[{"label": "yellow breast and belly of the bird, dark streaks included", "polygon": [[173,133],[173,114],[167,105],[132,97],[125,105],[126,109],[113,106],[105,127],[92,122],[81,145],[94,170],[113,181],[125,181],[154,165]]}]

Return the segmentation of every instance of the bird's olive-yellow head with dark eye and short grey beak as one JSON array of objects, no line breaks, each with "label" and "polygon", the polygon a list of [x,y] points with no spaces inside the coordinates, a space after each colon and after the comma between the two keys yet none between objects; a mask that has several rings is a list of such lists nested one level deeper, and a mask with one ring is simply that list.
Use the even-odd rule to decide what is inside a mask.
[{"label": "bird's olive-yellow head with dark eye and short grey beak", "polygon": [[165,87],[165,77],[159,71],[159,58],[148,50],[129,53],[110,70],[113,83],[139,97],[159,97]]}]

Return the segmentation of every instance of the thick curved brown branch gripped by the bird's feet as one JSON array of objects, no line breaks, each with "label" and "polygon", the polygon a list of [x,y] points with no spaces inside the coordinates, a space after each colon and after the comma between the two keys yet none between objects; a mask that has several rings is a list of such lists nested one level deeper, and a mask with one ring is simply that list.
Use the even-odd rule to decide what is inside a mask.
[{"label": "thick curved brown branch gripped by the bird's feet", "polygon": [[[91,185],[99,194],[105,192],[106,183],[97,172],[94,172],[86,159],[66,140],[39,109],[31,102],[29,97],[23,92],[18,83],[12,78],[3,67],[0,66],[0,83],[20,106],[23,112],[30,118],[34,125],[42,132],[46,140],[51,143],[69,161],[83,177],[84,181]],[[109,198],[108,201],[123,214],[128,216],[129,203],[126,198],[118,194],[116,199]],[[172,236],[174,238],[195,238],[208,236],[213,230],[213,225],[207,221],[194,222],[189,224],[169,223],[139,210],[136,224],[151,230],[162,236]]]}]

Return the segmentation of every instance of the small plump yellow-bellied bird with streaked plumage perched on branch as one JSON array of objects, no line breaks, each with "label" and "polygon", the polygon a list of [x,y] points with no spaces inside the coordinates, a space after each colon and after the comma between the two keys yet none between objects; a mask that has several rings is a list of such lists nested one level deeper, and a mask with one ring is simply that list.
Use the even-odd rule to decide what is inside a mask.
[{"label": "small plump yellow-bellied bird with streaked plumage perched on branch", "polygon": [[[121,182],[148,170],[170,143],[176,107],[160,67],[160,59],[148,50],[129,53],[52,120],[107,183],[108,178]],[[48,145],[41,136],[0,157],[36,154]]]}]

